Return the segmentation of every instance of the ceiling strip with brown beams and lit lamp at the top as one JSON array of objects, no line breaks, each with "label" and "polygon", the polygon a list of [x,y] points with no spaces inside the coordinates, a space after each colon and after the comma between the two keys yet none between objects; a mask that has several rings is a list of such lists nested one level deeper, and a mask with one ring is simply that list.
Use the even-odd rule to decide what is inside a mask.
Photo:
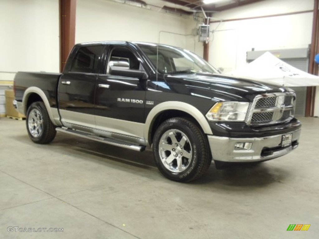
[{"label": "ceiling strip with brown beams and lit lamp at the top", "polygon": [[[201,7],[204,9],[205,12],[219,12],[225,11],[228,9],[232,9],[239,6],[244,6],[256,2],[261,2],[265,0],[219,0],[215,4],[204,4],[203,0],[163,0],[164,2],[168,2],[170,4],[175,4],[175,7],[172,8],[171,5],[164,6],[164,9],[175,9],[181,10],[185,14],[185,10],[192,14],[194,11],[201,11]],[[185,7],[187,9],[185,9]]]}]

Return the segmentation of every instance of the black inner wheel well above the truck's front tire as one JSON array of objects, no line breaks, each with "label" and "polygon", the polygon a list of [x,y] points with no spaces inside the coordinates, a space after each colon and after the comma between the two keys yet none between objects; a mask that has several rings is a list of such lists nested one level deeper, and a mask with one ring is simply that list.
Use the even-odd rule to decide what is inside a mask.
[{"label": "black inner wheel well above the truck's front tire", "polygon": [[160,112],[151,124],[151,127],[150,127],[151,130],[149,131],[149,135],[148,135],[148,142],[150,145],[152,145],[155,131],[159,127],[159,125],[161,123],[163,123],[165,120],[175,118],[175,117],[187,118],[188,120],[190,120],[194,124],[196,124],[198,126],[198,128],[200,128],[203,131],[202,127],[197,122],[197,120],[189,113],[186,113],[186,112],[180,111],[180,110],[166,110],[166,111]]}]

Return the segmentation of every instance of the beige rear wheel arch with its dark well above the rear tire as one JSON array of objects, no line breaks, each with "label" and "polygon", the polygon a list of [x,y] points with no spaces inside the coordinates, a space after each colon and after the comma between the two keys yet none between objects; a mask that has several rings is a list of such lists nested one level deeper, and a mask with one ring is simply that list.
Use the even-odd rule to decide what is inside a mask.
[{"label": "beige rear wheel arch with its dark well above the rear tire", "polygon": [[38,87],[32,86],[26,89],[23,94],[22,102],[24,107],[24,112],[28,111],[29,106],[36,101],[42,101],[48,111],[49,118],[51,122],[56,125],[56,121],[54,120],[53,112],[51,110],[51,106],[48,101],[48,97],[45,93]]}]

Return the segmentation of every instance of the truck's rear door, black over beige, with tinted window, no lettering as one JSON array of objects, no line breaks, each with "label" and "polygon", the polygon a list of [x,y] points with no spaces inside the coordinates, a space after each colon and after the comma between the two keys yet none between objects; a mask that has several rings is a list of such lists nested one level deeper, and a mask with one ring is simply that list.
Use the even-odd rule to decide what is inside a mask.
[{"label": "truck's rear door, black over beige, with tinted window, no lettering", "polygon": [[92,131],[95,128],[94,95],[103,45],[81,46],[61,76],[59,112],[64,126]]}]

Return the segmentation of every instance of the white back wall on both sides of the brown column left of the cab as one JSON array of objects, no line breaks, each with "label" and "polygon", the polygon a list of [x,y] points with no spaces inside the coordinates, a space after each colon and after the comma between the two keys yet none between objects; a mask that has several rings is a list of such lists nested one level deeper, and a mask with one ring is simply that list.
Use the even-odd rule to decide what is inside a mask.
[{"label": "white back wall on both sides of the brown column left of the cab", "polygon": [[[159,0],[148,3],[161,4]],[[76,42],[98,40],[151,41],[187,48],[203,55],[192,17],[144,10],[107,0],[78,0]],[[17,71],[59,71],[59,0],[0,0],[0,81]],[[194,39],[196,39],[194,47]]]}]

